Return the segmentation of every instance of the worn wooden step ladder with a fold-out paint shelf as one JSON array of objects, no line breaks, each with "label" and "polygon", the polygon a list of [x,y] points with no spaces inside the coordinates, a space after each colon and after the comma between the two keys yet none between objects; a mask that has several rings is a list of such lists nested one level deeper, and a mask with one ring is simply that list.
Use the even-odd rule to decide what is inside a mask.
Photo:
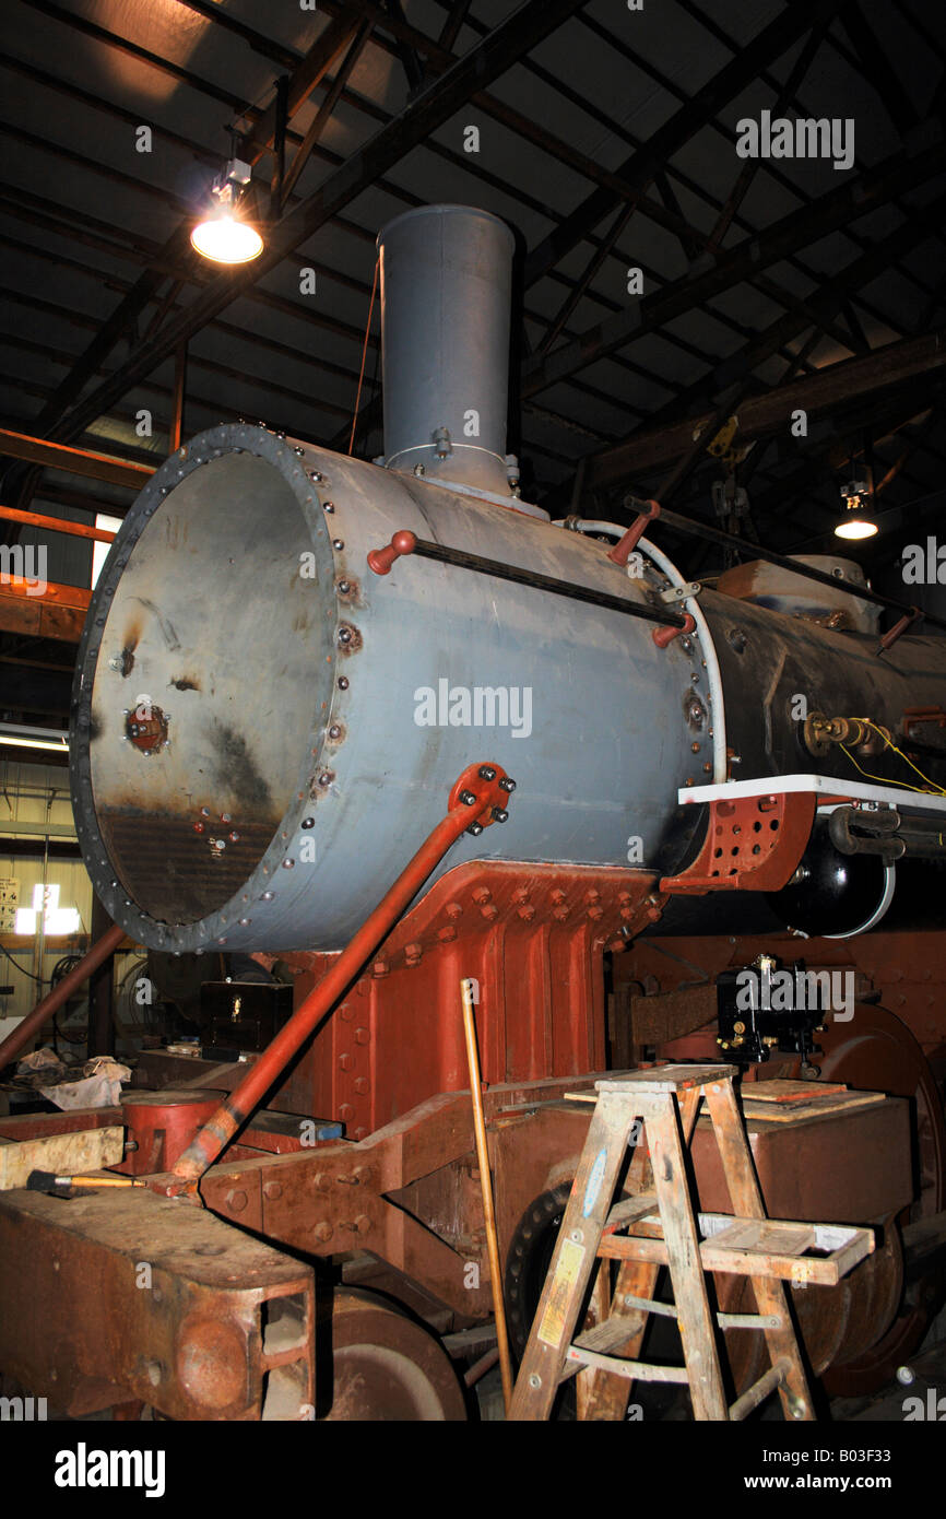
[{"label": "worn wooden step ladder with a fold-out paint shelf", "polygon": [[[624,1419],[630,1384],[688,1384],[695,1419],[744,1419],[777,1388],[787,1419],[814,1408],[782,1281],[834,1285],[875,1247],[873,1230],[765,1217],[730,1065],[670,1065],[595,1082],[569,1094],[595,1104],[579,1171],[528,1335],[509,1417],[548,1419],[563,1381],[579,1375],[580,1419]],[[686,1147],[706,1098],[735,1217],[697,1214]],[[624,1195],[615,1202],[629,1144],[644,1121]],[[618,1230],[630,1230],[618,1233]],[[700,1238],[702,1236],[702,1238]],[[818,1252],[808,1255],[809,1250]],[[620,1261],[610,1270],[601,1261]],[[654,1300],[657,1273],[670,1268],[674,1305]],[[597,1276],[594,1274],[597,1270]],[[758,1312],[715,1314],[721,1329],[765,1335],[770,1369],[727,1404],[706,1271],[752,1279]],[[594,1276],[594,1284],[592,1284]],[[597,1323],[574,1337],[582,1305]],[[638,1360],[650,1314],[676,1317],[685,1367]]]}]

